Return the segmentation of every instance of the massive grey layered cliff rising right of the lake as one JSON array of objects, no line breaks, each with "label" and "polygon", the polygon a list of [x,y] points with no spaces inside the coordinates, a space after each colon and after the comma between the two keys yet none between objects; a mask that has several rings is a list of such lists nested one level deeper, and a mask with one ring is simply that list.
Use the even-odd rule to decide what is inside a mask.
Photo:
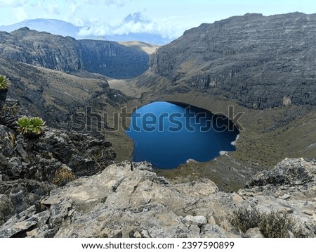
[{"label": "massive grey layered cliff rising right of the lake", "polygon": [[248,108],[316,104],[316,15],[246,14],[202,24],[161,46],[150,71],[177,91],[224,94]]}]

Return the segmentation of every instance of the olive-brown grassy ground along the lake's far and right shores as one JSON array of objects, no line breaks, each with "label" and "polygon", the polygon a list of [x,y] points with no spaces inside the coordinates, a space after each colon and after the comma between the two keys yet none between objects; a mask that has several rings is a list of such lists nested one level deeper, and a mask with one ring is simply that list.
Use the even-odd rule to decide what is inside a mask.
[{"label": "olive-brown grassy ground along the lake's far and right shores", "polygon": [[[159,84],[157,86],[159,87]],[[185,182],[206,176],[222,189],[235,190],[243,187],[256,172],[270,170],[286,157],[315,158],[315,146],[310,146],[316,142],[315,106],[291,105],[258,111],[244,108],[236,100],[230,101],[225,96],[213,96],[198,91],[162,92],[157,91],[155,87],[155,91],[150,92],[149,87],[138,86],[136,81],[126,80],[121,80],[117,85],[113,83],[111,87],[126,95],[131,94],[131,90],[133,94],[136,92],[142,97],[139,106],[152,101],[178,101],[204,108],[212,113],[228,115],[229,106],[234,107],[235,115],[239,112],[244,113],[235,121],[236,125],[244,129],[237,140],[236,151],[206,163],[190,163],[181,165],[176,170],[157,171],[166,177]],[[235,115],[230,119],[234,121]]]}]

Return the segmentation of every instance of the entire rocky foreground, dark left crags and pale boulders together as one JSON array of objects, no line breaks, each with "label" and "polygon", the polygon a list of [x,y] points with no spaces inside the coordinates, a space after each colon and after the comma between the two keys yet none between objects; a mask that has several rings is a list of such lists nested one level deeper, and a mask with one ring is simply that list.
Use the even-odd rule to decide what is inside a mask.
[{"label": "entire rocky foreground, dark left crags and pale boulders together", "polygon": [[224,192],[206,177],[180,183],[150,163],[114,163],[112,144],[90,134],[47,127],[24,137],[19,108],[7,99],[0,111],[0,237],[267,237],[232,221],[234,210],[254,207],[301,227],[282,237],[315,237],[315,159],[285,159]]}]

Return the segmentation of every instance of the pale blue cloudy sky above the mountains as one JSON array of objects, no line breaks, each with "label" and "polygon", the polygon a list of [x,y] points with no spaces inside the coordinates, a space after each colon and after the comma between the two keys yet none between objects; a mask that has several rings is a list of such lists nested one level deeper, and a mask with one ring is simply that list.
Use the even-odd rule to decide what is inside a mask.
[{"label": "pale blue cloudy sky above the mountains", "polygon": [[89,27],[83,35],[142,32],[173,39],[201,23],[232,15],[316,13],[315,0],[0,0],[0,25],[53,18]]}]

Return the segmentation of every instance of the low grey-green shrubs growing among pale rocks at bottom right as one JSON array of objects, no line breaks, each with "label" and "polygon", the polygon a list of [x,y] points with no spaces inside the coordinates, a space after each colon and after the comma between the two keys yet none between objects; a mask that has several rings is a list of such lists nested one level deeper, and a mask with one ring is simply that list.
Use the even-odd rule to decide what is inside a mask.
[{"label": "low grey-green shrubs growing among pale rocks at bottom right", "polygon": [[267,238],[286,238],[290,237],[290,234],[294,237],[303,237],[303,228],[294,218],[288,213],[279,213],[275,210],[262,213],[256,207],[237,208],[232,212],[230,222],[243,233],[249,228],[259,227],[261,234]]}]

